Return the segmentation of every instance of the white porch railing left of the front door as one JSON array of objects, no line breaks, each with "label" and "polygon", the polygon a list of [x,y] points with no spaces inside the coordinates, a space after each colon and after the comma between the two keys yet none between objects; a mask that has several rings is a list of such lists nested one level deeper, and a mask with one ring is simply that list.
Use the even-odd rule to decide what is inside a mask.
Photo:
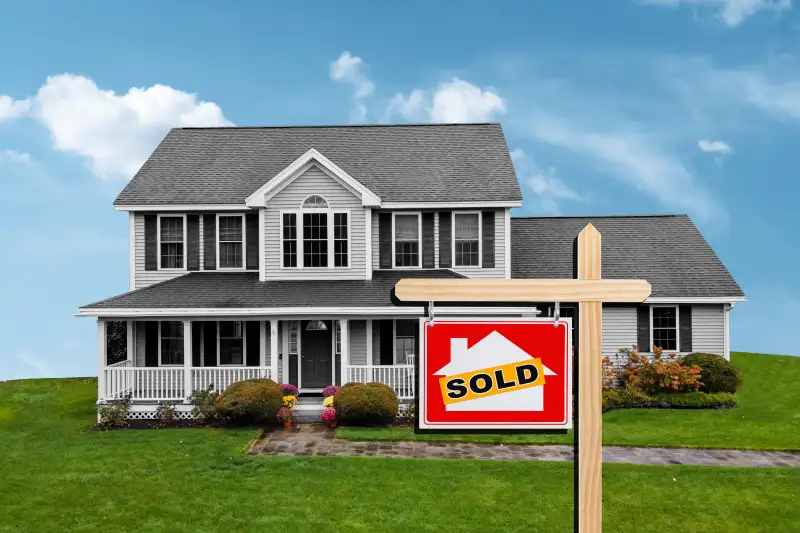
[{"label": "white porch railing left of the front door", "polygon": [[193,367],[191,390],[186,390],[186,368],[134,367],[122,361],[105,368],[104,400],[114,400],[131,395],[132,400],[184,400],[197,389],[213,385],[222,392],[236,381],[270,377],[268,367]]}]

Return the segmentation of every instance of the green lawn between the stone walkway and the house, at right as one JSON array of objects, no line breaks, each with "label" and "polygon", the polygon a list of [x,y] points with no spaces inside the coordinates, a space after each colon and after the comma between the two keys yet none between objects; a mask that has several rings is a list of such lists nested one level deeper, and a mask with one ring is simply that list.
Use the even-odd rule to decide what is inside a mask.
[{"label": "green lawn between the stone walkway and the house, at right", "polygon": [[[622,409],[603,415],[603,444],[800,450],[800,358],[734,352],[744,377],[733,409]],[[568,434],[415,434],[406,428],[336,430],[348,439],[571,444]]]}]

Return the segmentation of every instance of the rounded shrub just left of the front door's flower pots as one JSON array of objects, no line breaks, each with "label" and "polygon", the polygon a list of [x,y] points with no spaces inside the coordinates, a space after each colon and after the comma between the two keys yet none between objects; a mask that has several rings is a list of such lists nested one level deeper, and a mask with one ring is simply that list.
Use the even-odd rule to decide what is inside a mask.
[{"label": "rounded shrub just left of the front door's flower pots", "polygon": [[237,381],[214,400],[220,415],[237,424],[275,423],[281,387],[271,379]]}]

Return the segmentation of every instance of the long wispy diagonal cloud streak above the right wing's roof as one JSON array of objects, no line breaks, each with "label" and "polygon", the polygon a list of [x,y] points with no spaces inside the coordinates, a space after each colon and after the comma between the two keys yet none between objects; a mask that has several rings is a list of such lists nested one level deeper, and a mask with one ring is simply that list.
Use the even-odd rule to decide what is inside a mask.
[{"label": "long wispy diagonal cloud streak above the right wing's roof", "polygon": [[598,132],[547,115],[535,116],[529,132],[539,141],[589,158],[592,166],[632,185],[669,209],[700,222],[727,221],[719,201],[706,191],[676,157],[635,132]]}]

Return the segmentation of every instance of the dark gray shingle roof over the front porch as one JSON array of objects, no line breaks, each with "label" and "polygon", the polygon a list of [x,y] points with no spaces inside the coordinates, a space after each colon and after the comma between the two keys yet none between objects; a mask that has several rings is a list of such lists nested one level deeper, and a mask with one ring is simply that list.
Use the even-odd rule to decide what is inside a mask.
[{"label": "dark gray shingle roof over the front porch", "polygon": [[258,281],[257,272],[194,272],[83,306],[85,309],[207,309],[393,306],[401,278],[460,278],[451,270],[375,271],[372,280]]}]

